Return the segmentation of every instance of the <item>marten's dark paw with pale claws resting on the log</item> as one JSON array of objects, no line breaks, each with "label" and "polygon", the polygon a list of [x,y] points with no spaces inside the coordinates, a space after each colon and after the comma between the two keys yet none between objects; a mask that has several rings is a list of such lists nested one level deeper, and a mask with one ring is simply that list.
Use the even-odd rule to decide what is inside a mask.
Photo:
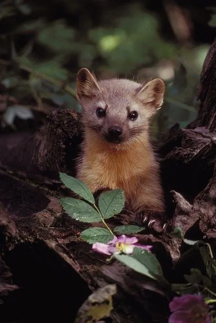
[{"label": "marten's dark paw with pale claws resting on the log", "polygon": [[145,210],[140,212],[140,218],[143,225],[147,225],[149,229],[153,229],[157,232],[166,231],[167,218],[164,213],[155,213]]}]

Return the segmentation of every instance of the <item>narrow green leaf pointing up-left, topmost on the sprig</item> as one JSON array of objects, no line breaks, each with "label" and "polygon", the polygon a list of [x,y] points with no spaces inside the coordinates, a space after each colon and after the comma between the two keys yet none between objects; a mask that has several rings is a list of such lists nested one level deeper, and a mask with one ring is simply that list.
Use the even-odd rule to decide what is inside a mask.
[{"label": "narrow green leaf pointing up-left, topmost on the sprig", "polygon": [[74,191],[79,196],[83,197],[85,200],[90,202],[91,204],[95,204],[95,198],[89,189],[89,187],[84,184],[80,179],[69,176],[62,172],[59,173],[61,181],[65,184],[65,186],[72,191]]}]

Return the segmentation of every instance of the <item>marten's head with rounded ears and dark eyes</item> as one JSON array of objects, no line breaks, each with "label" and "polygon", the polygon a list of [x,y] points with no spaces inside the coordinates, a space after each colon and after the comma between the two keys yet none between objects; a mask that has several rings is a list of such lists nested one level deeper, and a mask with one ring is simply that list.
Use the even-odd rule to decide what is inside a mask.
[{"label": "marten's head with rounded ears and dark eyes", "polygon": [[76,95],[85,130],[114,145],[148,133],[149,120],[161,108],[164,91],[159,78],[140,85],[126,79],[97,81],[87,68],[77,74]]}]

